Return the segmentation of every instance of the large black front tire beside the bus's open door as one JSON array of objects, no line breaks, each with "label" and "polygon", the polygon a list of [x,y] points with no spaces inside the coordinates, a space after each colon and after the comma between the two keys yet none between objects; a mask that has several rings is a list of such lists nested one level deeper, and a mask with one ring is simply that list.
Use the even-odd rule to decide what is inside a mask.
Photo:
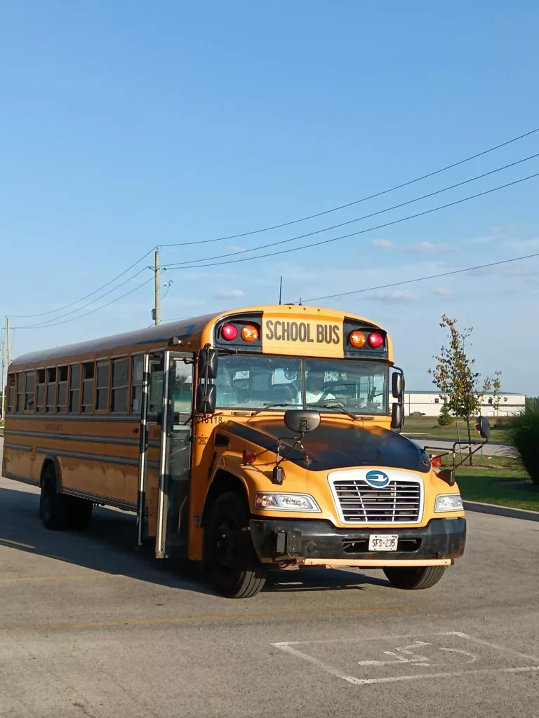
[{"label": "large black front tire beside the bus's open door", "polygon": [[266,581],[266,568],[254,552],[245,504],[231,491],[218,496],[204,532],[206,570],[227,598],[252,598]]}]

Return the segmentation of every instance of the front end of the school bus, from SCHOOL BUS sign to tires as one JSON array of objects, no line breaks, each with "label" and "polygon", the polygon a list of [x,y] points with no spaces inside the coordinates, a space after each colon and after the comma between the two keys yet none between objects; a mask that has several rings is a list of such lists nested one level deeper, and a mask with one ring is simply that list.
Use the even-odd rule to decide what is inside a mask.
[{"label": "front end of the school bus, from SCHOOL BUS sign to tires", "polygon": [[206,487],[191,500],[191,550],[218,589],[254,595],[270,566],[436,584],[464,552],[464,510],[452,474],[395,431],[403,383],[390,386],[400,370],[387,334],[361,317],[270,307],[221,317],[206,340],[216,406],[195,425],[193,488],[203,474]]}]

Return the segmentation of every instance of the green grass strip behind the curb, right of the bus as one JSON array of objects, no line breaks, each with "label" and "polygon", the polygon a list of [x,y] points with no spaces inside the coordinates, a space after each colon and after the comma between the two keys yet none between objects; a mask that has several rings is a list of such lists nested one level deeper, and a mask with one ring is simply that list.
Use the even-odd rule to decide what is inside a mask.
[{"label": "green grass strip behind the curb, right of the bus", "polygon": [[539,511],[539,488],[532,490],[515,485],[527,479],[523,469],[461,467],[456,470],[456,481],[464,500]]}]

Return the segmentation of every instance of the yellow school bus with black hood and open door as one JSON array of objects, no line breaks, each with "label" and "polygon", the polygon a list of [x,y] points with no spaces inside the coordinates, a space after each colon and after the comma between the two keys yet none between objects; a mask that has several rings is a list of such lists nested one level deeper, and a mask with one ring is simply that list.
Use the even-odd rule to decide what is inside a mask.
[{"label": "yellow school bus with black hood and open door", "polygon": [[21,356],[4,476],[40,487],[47,528],[137,512],[158,558],[204,561],[223,595],[268,567],[382,568],[433,586],[463,554],[451,470],[403,437],[382,327],[318,307],[249,307]]}]

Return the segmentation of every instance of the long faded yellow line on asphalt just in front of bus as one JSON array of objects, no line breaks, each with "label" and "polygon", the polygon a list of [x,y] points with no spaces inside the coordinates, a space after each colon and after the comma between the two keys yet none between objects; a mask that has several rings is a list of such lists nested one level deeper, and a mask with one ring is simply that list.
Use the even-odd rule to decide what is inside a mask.
[{"label": "long faded yellow line on asphalt just in front of bus", "polygon": [[23,630],[61,630],[69,628],[109,628],[111,626],[140,626],[157,623],[188,623],[193,621],[226,621],[239,618],[272,618],[283,616],[318,616],[331,613],[369,613],[376,611],[413,611],[419,606],[376,606],[370,608],[328,608],[318,611],[275,611],[264,613],[230,613],[228,615],[206,615],[206,616],[176,616],[174,618],[140,618],[126,621],[98,621],[96,623],[42,623],[34,626],[14,626],[13,628],[0,628],[0,633]]}]

